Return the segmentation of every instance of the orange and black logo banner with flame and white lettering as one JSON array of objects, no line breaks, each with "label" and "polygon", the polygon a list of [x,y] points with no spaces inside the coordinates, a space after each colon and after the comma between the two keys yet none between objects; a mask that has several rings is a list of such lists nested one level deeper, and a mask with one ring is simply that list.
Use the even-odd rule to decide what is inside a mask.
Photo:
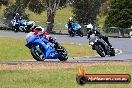
[{"label": "orange and black logo banner with flame and white lettering", "polygon": [[76,76],[78,84],[126,84],[130,83],[131,76],[129,74],[86,74],[82,67],[79,67],[79,74]]}]

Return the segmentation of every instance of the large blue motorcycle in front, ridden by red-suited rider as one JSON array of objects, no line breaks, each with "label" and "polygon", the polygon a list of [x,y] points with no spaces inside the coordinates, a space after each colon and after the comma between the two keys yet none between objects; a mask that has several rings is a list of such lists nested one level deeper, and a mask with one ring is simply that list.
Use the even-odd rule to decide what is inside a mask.
[{"label": "large blue motorcycle in front, ridden by red-suited rider", "polygon": [[26,44],[30,49],[31,55],[37,61],[44,61],[45,59],[59,59],[66,61],[68,53],[66,49],[58,42],[51,43],[43,36],[35,36],[33,32],[28,33],[26,36]]}]

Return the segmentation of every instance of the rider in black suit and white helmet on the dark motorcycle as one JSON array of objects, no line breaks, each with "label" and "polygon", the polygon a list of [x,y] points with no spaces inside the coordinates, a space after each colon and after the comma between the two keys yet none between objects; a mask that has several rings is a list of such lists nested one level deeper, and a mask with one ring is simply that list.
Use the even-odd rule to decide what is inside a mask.
[{"label": "rider in black suit and white helmet on the dark motorcycle", "polygon": [[112,45],[110,44],[110,42],[108,40],[108,37],[101,35],[101,33],[100,33],[99,29],[97,28],[97,26],[94,27],[90,23],[90,24],[87,25],[87,30],[88,30],[88,38],[94,32],[96,36],[99,36],[100,38],[102,38],[108,44],[108,46],[112,47]]}]

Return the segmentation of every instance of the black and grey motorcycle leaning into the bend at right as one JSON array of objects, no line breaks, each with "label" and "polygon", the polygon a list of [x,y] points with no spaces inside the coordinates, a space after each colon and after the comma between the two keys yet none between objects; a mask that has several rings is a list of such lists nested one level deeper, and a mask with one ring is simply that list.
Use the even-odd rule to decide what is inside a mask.
[{"label": "black and grey motorcycle leaning into the bend at right", "polygon": [[95,33],[92,33],[89,37],[89,45],[92,46],[93,50],[101,56],[105,57],[106,55],[115,56],[114,48],[108,46],[108,44],[101,39],[99,36],[96,36]]}]

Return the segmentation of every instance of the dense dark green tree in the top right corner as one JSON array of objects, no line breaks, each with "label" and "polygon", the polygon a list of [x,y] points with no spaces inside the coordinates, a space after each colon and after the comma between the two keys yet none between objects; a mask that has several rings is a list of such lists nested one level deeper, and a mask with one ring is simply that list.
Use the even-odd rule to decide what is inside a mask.
[{"label": "dense dark green tree in the top right corner", "polygon": [[132,25],[132,0],[110,0],[105,27],[129,28]]}]

